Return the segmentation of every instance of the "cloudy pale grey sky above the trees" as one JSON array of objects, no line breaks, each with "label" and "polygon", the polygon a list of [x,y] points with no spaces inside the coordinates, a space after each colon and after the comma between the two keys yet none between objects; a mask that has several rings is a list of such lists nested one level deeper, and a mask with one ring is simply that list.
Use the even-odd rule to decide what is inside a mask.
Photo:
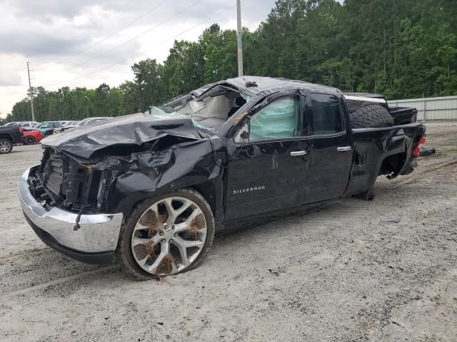
[{"label": "cloudy pale grey sky above the trees", "polygon": [[[255,30],[275,0],[241,2]],[[11,113],[32,86],[96,88],[131,80],[131,65],[162,62],[175,39],[196,41],[217,23],[236,29],[236,0],[0,0],[0,113]]]}]

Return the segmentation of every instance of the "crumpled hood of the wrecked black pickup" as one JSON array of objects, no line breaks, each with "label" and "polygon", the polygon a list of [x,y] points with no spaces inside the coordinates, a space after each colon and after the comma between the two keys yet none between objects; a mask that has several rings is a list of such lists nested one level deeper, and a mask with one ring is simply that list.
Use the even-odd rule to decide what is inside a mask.
[{"label": "crumpled hood of the wrecked black pickup", "polygon": [[142,145],[166,135],[201,139],[191,119],[186,115],[138,113],[71,128],[41,140],[41,144],[89,159],[94,152],[105,147]]}]

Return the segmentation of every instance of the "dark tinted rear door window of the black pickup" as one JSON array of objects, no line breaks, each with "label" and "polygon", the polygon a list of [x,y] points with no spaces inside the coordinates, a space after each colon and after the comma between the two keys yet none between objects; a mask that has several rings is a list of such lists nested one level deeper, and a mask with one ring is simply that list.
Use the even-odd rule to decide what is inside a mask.
[{"label": "dark tinted rear door window of the black pickup", "polygon": [[311,134],[343,132],[343,115],[335,95],[311,93]]}]

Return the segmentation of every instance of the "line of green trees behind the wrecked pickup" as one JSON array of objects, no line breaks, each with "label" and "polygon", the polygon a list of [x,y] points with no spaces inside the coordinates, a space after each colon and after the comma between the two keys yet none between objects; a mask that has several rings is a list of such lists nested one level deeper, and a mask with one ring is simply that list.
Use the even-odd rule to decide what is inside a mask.
[{"label": "line of green trees behind the wrecked pickup", "polygon": [[[455,0],[278,0],[256,31],[243,29],[244,72],[389,99],[457,95],[456,18]],[[135,63],[120,86],[31,88],[36,120],[144,111],[236,77],[236,56],[236,31],[213,24],[197,41],[175,41],[164,63]],[[4,121],[30,118],[24,98]]]}]

